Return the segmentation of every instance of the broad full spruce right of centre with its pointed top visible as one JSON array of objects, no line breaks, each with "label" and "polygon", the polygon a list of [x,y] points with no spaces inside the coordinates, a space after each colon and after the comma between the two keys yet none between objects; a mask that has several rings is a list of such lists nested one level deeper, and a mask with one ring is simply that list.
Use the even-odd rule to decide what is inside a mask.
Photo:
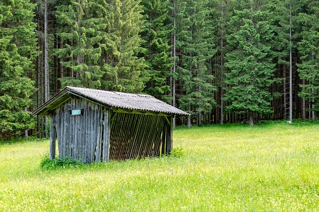
[{"label": "broad full spruce right of centre with its pointed top visible", "polygon": [[247,113],[250,125],[254,114],[270,113],[274,64],[271,42],[271,13],[258,5],[236,10],[231,18],[228,45],[233,50],[226,54],[225,101],[231,102],[226,110]]}]

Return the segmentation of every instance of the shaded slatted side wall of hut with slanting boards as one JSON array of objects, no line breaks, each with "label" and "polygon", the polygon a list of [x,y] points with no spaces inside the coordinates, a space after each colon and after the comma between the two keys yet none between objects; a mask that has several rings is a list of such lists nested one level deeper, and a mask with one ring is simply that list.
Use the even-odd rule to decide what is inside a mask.
[{"label": "shaded slatted side wall of hut with slanting boards", "polygon": [[110,159],[159,156],[165,145],[166,118],[157,115],[116,113],[112,118]]}]

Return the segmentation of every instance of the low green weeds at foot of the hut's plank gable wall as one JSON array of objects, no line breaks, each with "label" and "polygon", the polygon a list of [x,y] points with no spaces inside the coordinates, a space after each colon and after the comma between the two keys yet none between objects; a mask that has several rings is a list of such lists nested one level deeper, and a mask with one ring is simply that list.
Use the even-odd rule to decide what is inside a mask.
[{"label": "low green weeds at foot of the hut's plank gable wall", "polygon": [[49,155],[44,155],[40,162],[41,169],[51,170],[56,168],[68,168],[68,167],[81,167],[83,163],[72,158],[60,158],[57,156],[55,159],[49,159]]}]

